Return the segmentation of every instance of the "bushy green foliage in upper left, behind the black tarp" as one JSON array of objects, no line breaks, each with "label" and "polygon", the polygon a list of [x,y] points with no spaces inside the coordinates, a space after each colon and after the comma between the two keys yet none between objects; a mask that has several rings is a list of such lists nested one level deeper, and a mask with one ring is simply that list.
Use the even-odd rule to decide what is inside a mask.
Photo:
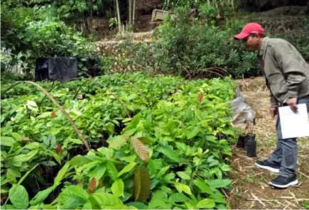
[{"label": "bushy green foliage in upper left, behind the black tarp", "polygon": [[1,61],[3,69],[17,65],[17,73],[31,78],[37,57],[85,59],[94,53],[94,45],[61,21],[52,6],[16,7],[1,2],[1,7],[10,11],[1,13],[1,55],[10,56]]}]

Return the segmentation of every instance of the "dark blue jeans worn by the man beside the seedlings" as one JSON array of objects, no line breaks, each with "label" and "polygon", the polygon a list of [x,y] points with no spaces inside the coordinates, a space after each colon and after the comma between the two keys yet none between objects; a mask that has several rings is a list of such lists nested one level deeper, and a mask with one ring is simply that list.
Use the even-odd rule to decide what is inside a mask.
[{"label": "dark blue jeans worn by the man beside the seedlings", "polygon": [[[307,104],[307,109],[309,111],[309,96],[298,99],[297,104]],[[296,165],[298,159],[296,138],[282,139],[279,115],[277,118],[276,128],[278,138],[277,147],[276,150],[273,151],[273,154],[271,154],[271,157],[267,160],[269,162],[281,165],[279,175],[283,177],[293,177],[296,175]]]}]

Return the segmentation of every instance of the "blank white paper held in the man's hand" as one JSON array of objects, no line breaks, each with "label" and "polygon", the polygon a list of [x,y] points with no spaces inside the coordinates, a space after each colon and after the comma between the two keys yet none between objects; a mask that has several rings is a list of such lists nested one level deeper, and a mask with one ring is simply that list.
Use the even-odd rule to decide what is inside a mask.
[{"label": "blank white paper held in the man's hand", "polygon": [[290,106],[279,107],[282,138],[309,136],[309,119],[306,104],[298,104],[295,114]]}]

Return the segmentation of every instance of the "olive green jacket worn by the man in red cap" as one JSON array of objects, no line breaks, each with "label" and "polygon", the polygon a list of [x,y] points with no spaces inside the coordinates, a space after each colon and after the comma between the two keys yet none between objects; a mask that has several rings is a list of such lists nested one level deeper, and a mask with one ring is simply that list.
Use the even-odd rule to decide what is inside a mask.
[{"label": "olive green jacket worn by the man in red cap", "polygon": [[266,37],[258,57],[271,92],[271,107],[288,98],[309,96],[309,65],[291,43]]}]

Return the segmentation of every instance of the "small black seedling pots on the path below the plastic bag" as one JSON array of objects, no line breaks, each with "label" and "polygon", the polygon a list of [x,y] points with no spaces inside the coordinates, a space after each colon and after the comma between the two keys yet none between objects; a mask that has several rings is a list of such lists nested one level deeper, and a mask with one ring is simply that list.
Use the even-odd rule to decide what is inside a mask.
[{"label": "small black seedling pots on the path below the plastic bag", "polygon": [[238,138],[237,148],[244,148],[246,155],[256,157],[256,141],[255,134],[241,135]]}]

